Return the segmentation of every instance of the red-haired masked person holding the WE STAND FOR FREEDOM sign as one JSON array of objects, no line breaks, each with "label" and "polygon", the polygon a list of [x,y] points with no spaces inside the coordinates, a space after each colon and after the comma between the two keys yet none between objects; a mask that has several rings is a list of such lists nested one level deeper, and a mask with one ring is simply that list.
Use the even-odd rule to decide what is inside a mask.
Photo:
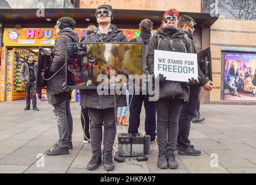
[{"label": "red-haired masked person holding the WE STAND FOR FREEDOM sign", "polygon": [[[191,45],[185,38],[184,32],[178,30],[179,13],[175,9],[167,10],[163,15],[163,22],[152,36],[148,46],[147,64],[149,73],[153,75],[154,50],[175,51],[192,53]],[[156,101],[158,135],[158,168],[176,169],[178,162],[175,158],[175,147],[178,137],[178,120],[182,105],[189,98],[188,83],[175,83],[181,88],[179,95],[169,96],[169,91],[164,89],[173,87],[174,83],[159,75],[159,92],[162,94]]]}]

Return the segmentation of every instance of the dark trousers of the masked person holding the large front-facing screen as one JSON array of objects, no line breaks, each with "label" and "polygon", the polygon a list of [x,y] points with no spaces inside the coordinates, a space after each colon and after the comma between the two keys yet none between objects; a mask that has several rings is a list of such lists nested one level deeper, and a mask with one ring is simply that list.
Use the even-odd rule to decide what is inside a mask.
[{"label": "dark trousers of the masked person holding the large front-facing screen", "polygon": [[[103,153],[112,154],[112,147],[116,136],[116,121],[114,108],[92,109],[88,108],[91,119],[90,136],[93,154],[101,153],[101,143],[103,140]],[[104,125],[104,134],[103,134]]]}]

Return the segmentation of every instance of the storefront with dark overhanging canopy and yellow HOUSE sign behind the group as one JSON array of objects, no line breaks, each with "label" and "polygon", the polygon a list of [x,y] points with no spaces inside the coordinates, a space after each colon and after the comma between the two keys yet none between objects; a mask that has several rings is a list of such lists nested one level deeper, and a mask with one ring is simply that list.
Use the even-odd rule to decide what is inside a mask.
[{"label": "storefront with dark overhanging canopy and yellow HOUSE sign behind the group", "polygon": [[[1,101],[12,101],[16,99],[17,94],[20,95],[17,98],[24,98],[24,86],[22,83],[20,84],[19,74],[17,77],[14,76],[19,72],[20,58],[23,57],[22,54],[20,57],[17,51],[20,51],[20,49],[28,50],[36,55],[38,47],[49,49],[53,47],[56,39],[53,28],[60,17],[70,16],[76,20],[77,28],[75,31],[78,32],[80,38],[86,35],[85,28],[88,25],[96,24],[95,9],[45,9],[45,16],[42,17],[37,17],[36,11],[37,9],[26,9],[25,12],[21,9],[2,9],[0,11],[0,20],[3,24]],[[115,10],[115,18],[112,24],[122,29],[127,39],[130,40],[140,35],[138,24],[144,18],[152,20],[155,31],[161,24],[163,13],[164,11],[155,10]],[[198,52],[209,47],[210,26],[218,17],[211,17],[207,13],[180,12],[180,14],[187,14],[193,17],[197,23],[193,38]],[[15,55],[15,53],[17,54]],[[20,57],[19,60],[17,60],[18,56]],[[25,60],[25,56],[22,59]],[[8,71],[8,69],[10,70]],[[20,91],[20,88],[22,91]],[[19,92],[16,92],[17,90]],[[79,95],[76,97],[79,99]],[[205,102],[209,102],[210,97],[204,97],[208,98]]]}]

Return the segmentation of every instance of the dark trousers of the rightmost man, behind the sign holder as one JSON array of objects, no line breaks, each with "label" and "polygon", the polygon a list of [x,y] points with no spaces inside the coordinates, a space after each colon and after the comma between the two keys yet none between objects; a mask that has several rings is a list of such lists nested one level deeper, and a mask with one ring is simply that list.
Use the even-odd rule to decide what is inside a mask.
[{"label": "dark trousers of the rightmost man, behind the sign holder", "polygon": [[181,109],[179,130],[178,130],[178,142],[177,146],[182,149],[187,149],[190,146],[190,140],[188,139],[191,121],[195,115],[196,105],[199,99],[200,86],[189,86],[189,100]]}]

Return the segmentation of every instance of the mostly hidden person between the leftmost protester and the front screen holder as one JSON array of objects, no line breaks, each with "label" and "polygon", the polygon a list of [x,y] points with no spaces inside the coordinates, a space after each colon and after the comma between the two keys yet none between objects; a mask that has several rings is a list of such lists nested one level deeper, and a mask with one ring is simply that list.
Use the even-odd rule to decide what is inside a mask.
[{"label": "mostly hidden person between the leftmost protester and the front screen holder", "polygon": [[[86,36],[92,34],[96,30],[95,25],[89,25],[86,29]],[[83,37],[80,42],[83,42],[86,37]],[[79,90],[80,92],[83,93],[84,90]],[[82,103],[81,103],[82,104]],[[89,127],[90,127],[90,119],[88,116],[88,109],[86,106],[81,105],[81,124],[83,128],[83,143],[89,143],[90,142],[90,132],[89,132]]]}]

